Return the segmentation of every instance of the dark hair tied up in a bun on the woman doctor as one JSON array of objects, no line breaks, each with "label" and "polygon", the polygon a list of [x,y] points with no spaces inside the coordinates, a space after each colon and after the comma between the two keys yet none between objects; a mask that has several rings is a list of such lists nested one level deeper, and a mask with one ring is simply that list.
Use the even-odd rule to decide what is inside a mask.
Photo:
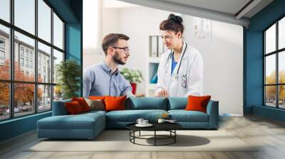
[{"label": "dark hair tied up in a bun on the woman doctor", "polygon": [[175,31],[175,33],[180,31],[182,34],[184,30],[182,21],[181,16],[175,16],[173,13],[170,13],[167,20],[160,23],[160,31]]}]

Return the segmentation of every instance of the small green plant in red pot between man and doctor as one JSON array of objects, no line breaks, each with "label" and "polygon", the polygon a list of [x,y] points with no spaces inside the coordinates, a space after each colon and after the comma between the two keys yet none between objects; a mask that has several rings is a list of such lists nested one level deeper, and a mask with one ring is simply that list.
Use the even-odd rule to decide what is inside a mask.
[{"label": "small green plant in red pot between man and doctor", "polygon": [[137,84],[143,81],[142,72],[140,70],[132,70],[129,68],[124,68],[120,73],[130,82],[130,85],[133,88],[133,94],[137,90]]}]

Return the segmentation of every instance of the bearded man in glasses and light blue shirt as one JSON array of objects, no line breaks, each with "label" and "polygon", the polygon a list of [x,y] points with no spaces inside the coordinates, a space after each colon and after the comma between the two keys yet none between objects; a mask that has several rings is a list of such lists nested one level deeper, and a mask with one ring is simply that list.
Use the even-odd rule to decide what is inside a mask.
[{"label": "bearded man in glasses and light blue shirt", "polygon": [[134,97],[130,82],[118,71],[118,65],[125,65],[130,57],[129,39],[127,35],[118,33],[110,33],[103,38],[105,60],[86,69],[83,75],[83,97]]}]

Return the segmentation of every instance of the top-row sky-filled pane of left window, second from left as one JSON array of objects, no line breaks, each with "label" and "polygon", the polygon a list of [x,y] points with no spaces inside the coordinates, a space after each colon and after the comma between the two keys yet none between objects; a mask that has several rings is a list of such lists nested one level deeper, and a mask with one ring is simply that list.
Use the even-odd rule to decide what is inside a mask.
[{"label": "top-row sky-filled pane of left window, second from left", "polygon": [[35,0],[14,0],[15,26],[35,34]]}]

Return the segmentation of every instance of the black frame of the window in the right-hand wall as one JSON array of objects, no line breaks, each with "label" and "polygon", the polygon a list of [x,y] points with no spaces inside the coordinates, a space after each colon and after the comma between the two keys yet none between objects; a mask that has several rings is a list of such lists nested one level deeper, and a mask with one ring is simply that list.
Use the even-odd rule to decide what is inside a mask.
[{"label": "black frame of the window in the right-hand wall", "polygon": [[[285,15],[279,17],[276,21],[274,21],[274,23],[271,23],[271,25],[269,25],[267,28],[264,29],[264,31],[262,31],[263,34],[263,106],[266,107],[270,107],[270,108],[275,108],[275,109],[285,109],[285,108],[280,108],[279,107],[279,86],[285,86],[285,83],[280,83],[279,82],[279,54],[283,53],[285,51],[285,48],[281,48],[279,49],[279,21],[281,19],[285,18]],[[266,54],[266,31],[268,31],[269,28],[271,28],[271,26],[274,26],[274,24],[276,25],[276,45],[275,45],[275,50],[271,53],[267,53]],[[269,55],[275,55],[275,62],[276,62],[276,66],[275,66],[275,70],[276,70],[276,75],[275,75],[275,84],[266,84],[266,57]],[[266,105],[266,86],[275,86],[275,106],[268,106]]]}]

